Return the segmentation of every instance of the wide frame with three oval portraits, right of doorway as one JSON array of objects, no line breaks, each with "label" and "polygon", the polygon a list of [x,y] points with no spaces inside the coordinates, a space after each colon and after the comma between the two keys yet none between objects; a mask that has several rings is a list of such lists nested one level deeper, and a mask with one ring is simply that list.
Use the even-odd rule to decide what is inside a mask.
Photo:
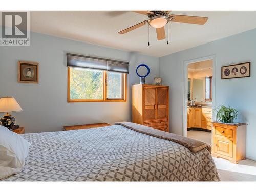
[{"label": "wide frame with three oval portraits, right of doorway", "polygon": [[221,67],[221,79],[250,77],[251,62],[243,62]]}]

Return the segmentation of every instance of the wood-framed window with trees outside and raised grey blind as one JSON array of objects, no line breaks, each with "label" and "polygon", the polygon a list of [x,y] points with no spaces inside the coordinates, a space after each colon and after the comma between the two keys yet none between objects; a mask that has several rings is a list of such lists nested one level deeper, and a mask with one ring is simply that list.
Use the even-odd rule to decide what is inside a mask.
[{"label": "wood-framed window with trees outside and raised grey blind", "polygon": [[123,73],[124,69],[120,65],[114,67],[116,62],[111,62],[111,66],[106,62],[104,68],[101,64],[105,62],[100,60],[95,64],[91,61],[86,60],[83,67],[76,67],[77,58],[68,57],[68,102],[126,101],[127,75]]}]

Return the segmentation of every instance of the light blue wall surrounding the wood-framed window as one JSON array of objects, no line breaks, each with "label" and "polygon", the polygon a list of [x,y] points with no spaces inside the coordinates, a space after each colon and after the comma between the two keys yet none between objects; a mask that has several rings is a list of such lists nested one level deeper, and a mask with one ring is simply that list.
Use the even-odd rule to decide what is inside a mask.
[{"label": "light blue wall surrounding the wood-framed window", "polygon": [[[150,66],[147,83],[159,76],[156,57],[38,33],[31,33],[30,39],[29,47],[0,46],[0,97],[16,98],[24,111],[13,116],[27,133],[60,131],[63,125],[131,121],[131,88],[139,83],[137,65]],[[66,52],[128,61],[127,102],[68,103]],[[17,82],[18,60],[39,62],[39,84]]]}]

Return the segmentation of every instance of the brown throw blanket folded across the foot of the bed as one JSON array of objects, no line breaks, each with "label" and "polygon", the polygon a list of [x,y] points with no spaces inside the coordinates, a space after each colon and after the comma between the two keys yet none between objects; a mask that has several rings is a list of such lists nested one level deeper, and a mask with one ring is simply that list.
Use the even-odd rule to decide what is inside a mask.
[{"label": "brown throw blanket folded across the foot of the bed", "polygon": [[153,137],[157,137],[160,139],[165,139],[168,141],[172,141],[178,144],[183,145],[184,147],[188,148],[191,152],[196,153],[198,151],[203,150],[204,148],[207,148],[209,152],[211,152],[210,145],[203,143],[201,141],[190,139],[188,137],[183,137],[177,134],[168,133],[164,131],[160,131],[148,126],[136,124],[136,123],[130,123],[130,122],[116,122],[116,125],[122,125],[128,129],[134,130],[139,133],[143,133],[146,135],[150,135]]}]

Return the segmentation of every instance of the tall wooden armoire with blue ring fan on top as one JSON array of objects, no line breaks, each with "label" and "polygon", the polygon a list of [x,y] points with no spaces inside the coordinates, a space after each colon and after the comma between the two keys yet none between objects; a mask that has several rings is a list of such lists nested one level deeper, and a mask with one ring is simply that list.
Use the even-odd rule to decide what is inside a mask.
[{"label": "tall wooden armoire with blue ring fan on top", "polygon": [[133,86],[133,122],[169,132],[169,86]]}]

